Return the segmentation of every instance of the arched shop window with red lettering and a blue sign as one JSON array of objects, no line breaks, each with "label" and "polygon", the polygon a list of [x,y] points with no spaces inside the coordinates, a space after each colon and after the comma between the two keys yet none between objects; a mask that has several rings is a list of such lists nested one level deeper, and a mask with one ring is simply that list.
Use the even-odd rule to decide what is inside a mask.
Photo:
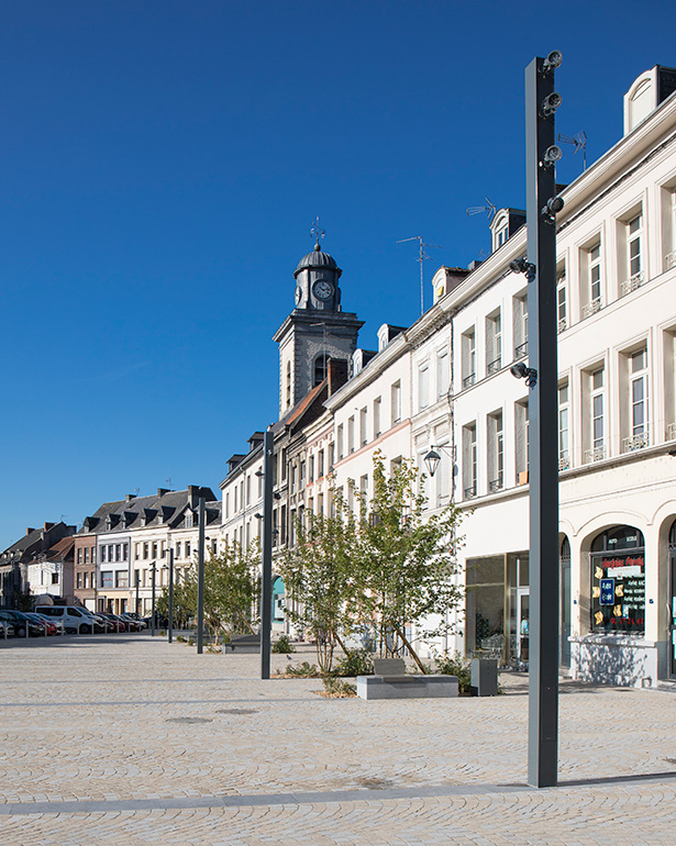
[{"label": "arched shop window with red lettering and a blue sign", "polygon": [[591,630],[645,628],[645,541],[634,526],[613,526],[591,543]]}]

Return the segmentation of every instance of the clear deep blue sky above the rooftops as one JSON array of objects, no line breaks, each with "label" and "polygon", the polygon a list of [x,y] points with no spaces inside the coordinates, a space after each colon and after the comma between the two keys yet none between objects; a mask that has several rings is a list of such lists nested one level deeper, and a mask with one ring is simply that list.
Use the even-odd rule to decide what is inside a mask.
[{"label": "clear deep blue sky above the rooftops", "polygon": [[[0,548],[106,500],[218,492],[277,416],[271,335],[312,248],[375,344],[435,266],[523,207],[523,70],[558,48],[557,130],[595,160],[676,65],[671,2],[22,0],[5,5]],[[565,149],[559,181],[581,169]],[[431,292],[425,291],[425,305]]]}]

